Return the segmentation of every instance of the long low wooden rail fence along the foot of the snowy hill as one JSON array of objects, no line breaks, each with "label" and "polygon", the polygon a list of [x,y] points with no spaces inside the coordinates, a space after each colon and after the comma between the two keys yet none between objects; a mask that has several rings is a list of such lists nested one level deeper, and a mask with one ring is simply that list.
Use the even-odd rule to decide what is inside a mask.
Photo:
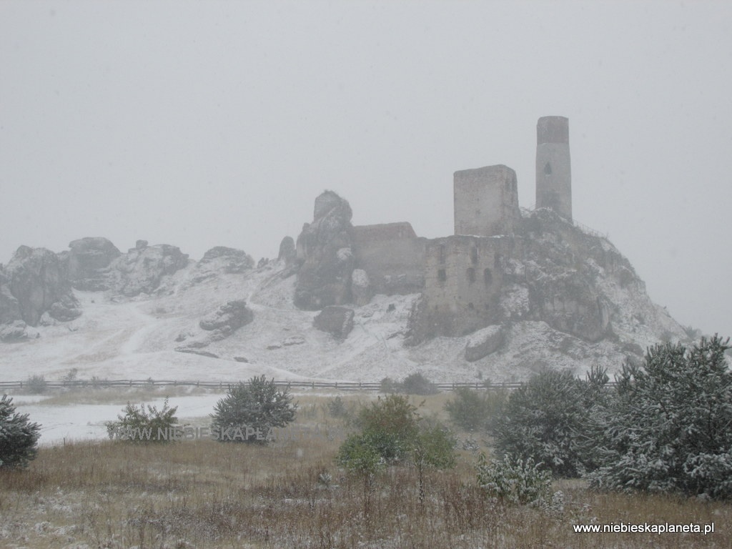
[{"label": "long low wooden rail fence along the foot of the snowy hill", "polygon": [[[206,389],[227,389],[230,385],[236,385],[239,381],[190,381],[176,379],[76,379],[73,381],[0,381],[0,391],[2,389],[24,389],[33,388],[42,383],[44,389],[74,389],[74,388],[94,388],[94,387],[160,387],[160,386],[194,386]],[[277,386],[290,386],[291,388],[302,389],[341,389],[343,391],[380,391],[381,383],[363,383],[359,381],[284,381],[275,380]],[[484,384],[480,381],[465,382],[456,381],[454,383],[436,383],[434,384],[440,391],[452,391],[458,387],[468,387],[471,389],[516,389],[520,383],[506,384]]]}]

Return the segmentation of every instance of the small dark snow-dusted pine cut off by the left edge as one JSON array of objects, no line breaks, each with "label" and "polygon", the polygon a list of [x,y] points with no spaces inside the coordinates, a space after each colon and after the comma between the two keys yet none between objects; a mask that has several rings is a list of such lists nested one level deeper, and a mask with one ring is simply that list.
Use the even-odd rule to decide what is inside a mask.
[{"label": "small dark snow-dusted pine cut off by the left edge", "polygon": [[38,452],[40,425],[18,414],[12,398],[0,398],[0,467],[25,467]]}]

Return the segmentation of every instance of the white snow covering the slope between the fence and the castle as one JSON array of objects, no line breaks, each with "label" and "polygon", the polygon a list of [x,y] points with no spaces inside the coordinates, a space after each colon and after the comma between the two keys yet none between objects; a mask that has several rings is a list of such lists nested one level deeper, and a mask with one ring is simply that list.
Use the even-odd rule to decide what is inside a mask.
[{"label": "white snow covering the slope between the fence and the castle", "polygon": [[[243,274],[223,271],[221,265],[191,262],[165,277],[154,296],[75,292],[81,317],[31,328],[31,340],[25,343],[0,345],[0,380],[33,375],[59,380],[75,368],[81,379],[238,381],[264,374],[283,381],[374,382],[422,371],[432,381],[522,381],[542,367],[571,368],[583,375],[592,365],[601,365],[613,373],[626,358],[623,346],[642,352],[665,329],[681,330],[650,301],[642,283],[621,287],[600,276],[602,291],[619,305],[612,326],[621,345],[589,343],[544,322],[517,321],[506,327],[498,351],[466,362],[466,337],[435,337],[417,347],[403,346],[417,294],[377,295],[354,307],[354,329],[340,341],[313,327],[317,313],[294,307],[296,277],[283,262]],[[209,332],[199,327],[201,318],[234,299],[247,300],[254,321],[201,349],[217,358],[176,351],[205,342]],[[520,287],[507,300],[517,310],[528,306]]]}]

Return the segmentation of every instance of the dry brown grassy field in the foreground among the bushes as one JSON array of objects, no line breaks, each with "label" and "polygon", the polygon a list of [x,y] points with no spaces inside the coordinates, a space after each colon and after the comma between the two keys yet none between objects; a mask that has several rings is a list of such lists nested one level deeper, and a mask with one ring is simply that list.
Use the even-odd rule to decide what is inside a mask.
[{"label": "dry brown grassy field in the foreground among the bushes", "polygon": [[[422,403],[420,414],[444,419],[442,407],[449,397],[443,393],[413,401]],[[86,398],[97,402],[102,396]],[[355,408],[374,395],[342,398]],[[408,467],[384,471],[373,490],[364,493],[359,479],[335,465],[340,438],[329,439],[326,433],[347,426],[328,414],[332,397],[301,395],[296,400],[296,424],[310,427],[311,433],[317,427],[317,436],[266,447],[205,439],[42,447],[26,470],[0,471],[0,546],[732,547],[729,504],[594,493],[582,481],[560,480],[553,490],[561,491],[561,501],[548,509],[502,507],[482,496],[475,482],[476,456],[465,450],[454,470],[430,471],[423,503],[416,471]],[[714,533],[575,534],[572,529],[573,524],[621,522],[714,523]]]}]

